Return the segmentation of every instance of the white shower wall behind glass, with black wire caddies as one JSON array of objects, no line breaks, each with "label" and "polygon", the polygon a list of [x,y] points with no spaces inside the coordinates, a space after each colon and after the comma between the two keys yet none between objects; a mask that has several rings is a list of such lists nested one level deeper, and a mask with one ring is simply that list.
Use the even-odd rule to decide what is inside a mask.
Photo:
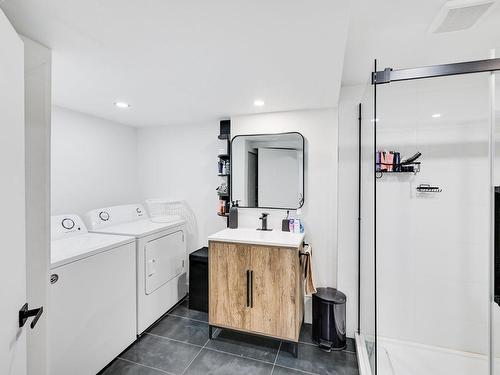
[{"label": "white shower wall behind glass, with black wire caddies", "polygon": [[[488,351],[488,79],[378,87],[379,148],[422,152],[419,174],[377,180],[380,336]],[[418,194],[421,183],[443,191]]]}]

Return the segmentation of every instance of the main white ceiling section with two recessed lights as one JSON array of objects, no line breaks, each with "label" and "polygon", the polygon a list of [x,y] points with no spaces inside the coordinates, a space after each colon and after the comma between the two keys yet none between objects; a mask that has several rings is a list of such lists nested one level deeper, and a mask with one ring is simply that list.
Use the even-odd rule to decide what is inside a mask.
[{"label": "main white ceiling section with two recessed lights", "polygon": [[[134,126],[336,106],[340,0],[3,0],[53,50],[53,103]],[[120,110],[115,101],[131,108]]]}]

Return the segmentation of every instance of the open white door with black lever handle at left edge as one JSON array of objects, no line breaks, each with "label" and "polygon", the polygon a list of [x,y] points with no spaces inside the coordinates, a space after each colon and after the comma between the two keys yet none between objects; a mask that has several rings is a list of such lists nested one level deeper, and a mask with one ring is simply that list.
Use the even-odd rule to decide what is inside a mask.
[{"label": "open white door with black lever handle at left edge", "polygon": [[[24,46],[0,10],[0,374],[26,374]],[[32,308],[32,306],[30,306]]]}]

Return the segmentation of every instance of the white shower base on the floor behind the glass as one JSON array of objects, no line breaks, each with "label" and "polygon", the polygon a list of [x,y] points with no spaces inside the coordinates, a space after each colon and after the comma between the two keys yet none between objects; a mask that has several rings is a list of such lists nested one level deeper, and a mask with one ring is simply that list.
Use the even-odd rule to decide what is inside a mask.
[{"label": "white shower base on the floor behind the glass", "polygon": [[[378,375],[487,375],[489,371],[486,355],[385,338],[379,338],[377,345]],[[366,352],[364,356],[366,362]],[[360,366],[360,374],[372,375],[367,366]]]}]

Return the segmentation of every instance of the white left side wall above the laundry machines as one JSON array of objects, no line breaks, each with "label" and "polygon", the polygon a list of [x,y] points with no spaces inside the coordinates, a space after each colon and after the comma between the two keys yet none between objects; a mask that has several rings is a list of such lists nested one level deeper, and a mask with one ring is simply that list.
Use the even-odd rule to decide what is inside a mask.
[{"label": "white left side wall above the laundry machines", "polygon": [[137,158],[135,128],[53,107],[52,214],[138,202]]}]

